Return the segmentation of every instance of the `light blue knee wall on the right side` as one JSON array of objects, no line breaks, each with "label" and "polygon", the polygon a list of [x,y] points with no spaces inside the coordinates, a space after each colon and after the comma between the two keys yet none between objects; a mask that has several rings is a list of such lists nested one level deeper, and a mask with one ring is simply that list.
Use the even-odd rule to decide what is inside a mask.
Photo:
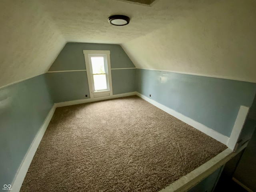
[{"label": "light blue knee wall on the right side", "polygon": [[230,136],[240,105],[251,106],[256,84],[137,69],[137,91],[201,124]]}]

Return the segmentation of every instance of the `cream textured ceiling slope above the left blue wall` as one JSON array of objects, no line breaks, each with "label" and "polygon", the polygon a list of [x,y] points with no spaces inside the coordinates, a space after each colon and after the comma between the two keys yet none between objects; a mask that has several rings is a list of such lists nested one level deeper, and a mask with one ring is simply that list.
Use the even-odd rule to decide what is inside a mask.
[{"label": "cream textured ceiling slope above the left blue wall", "polygon": [[66,41],[36,0],[0,0],[0,87],[43,74]]}]

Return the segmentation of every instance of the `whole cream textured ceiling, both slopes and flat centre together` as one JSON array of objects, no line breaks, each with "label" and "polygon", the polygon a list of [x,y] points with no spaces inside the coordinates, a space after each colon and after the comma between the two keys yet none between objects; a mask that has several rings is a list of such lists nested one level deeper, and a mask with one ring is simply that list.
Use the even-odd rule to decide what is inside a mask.
[{"label": "whole cream textured ceiling, both slopes and flat centre together", "polygon": [[[121,44],[138,68],[256,82],[255,10],[255,0],[1,0],[0,87],[47,72],[66,42]],[[130,24],[108,24],[113,14]]]}]

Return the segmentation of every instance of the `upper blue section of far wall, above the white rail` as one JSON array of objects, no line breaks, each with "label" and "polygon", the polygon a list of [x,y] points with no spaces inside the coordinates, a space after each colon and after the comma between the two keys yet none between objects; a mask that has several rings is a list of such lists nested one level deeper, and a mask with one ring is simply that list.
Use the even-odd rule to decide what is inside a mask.
[{"label": "upper blue section of far wall, above the white rail", "polygon": [[83,50],[110,50],[111,68],[135,68],[120,45],[95,43],[67,43],[49,71],[86,69]]}]

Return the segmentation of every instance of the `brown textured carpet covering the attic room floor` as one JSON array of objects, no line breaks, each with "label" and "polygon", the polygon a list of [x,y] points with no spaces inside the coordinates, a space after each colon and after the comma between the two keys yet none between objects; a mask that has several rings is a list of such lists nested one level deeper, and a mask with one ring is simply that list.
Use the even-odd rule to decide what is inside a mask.
[{"label": "brown textured carpet covering the attic room floor", "polygon": [[57,108],[21,192],[156,192],[226,146],[137,96]]}]

